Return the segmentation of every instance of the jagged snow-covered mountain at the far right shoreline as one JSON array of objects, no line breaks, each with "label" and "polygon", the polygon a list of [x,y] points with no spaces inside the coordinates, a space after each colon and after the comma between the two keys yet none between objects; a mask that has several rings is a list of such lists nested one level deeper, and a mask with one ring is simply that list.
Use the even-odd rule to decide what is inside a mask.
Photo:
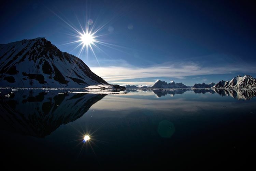
[{"label": "jagged snow-covered mountain at the far right shoreline", "polygon": [[256,79],[250,75],[238,75],[230,81],[219,81],[213,88],[252,88],[256,87]]}]

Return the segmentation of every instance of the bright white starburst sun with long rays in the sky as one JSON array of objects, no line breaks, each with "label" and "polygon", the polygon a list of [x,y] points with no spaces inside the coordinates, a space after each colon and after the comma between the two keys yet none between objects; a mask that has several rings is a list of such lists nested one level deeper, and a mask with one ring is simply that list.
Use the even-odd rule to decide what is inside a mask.
[{"label": "bright white starburst sun with long rays in the sky", "polygon": [[[47,8],[47,7],[46,7]],[[48,8],[47,8],[48,9]],[[94,56],[95,60],[97,61],[97,63],[100,66],[98,57],[97,57],[97,53],[96,53],[96,49],[102,53],[104,53],[105,55],[106,52],[104,52],[104,50],[102,49],[102,47],[108,47],[108,48],[112,48],[114,50],[123,52],[123,53],[127,53],[123,50],[121,50],[120,48],[123,49],[129,49],[120,45],[115,45],[115,44],[111,44],[109,41],[106,41],[106,38],[104,36],[109,35],[111,33],[100,33],[102,32],[102,30],[104,30],[109,24],[110,22],[112,22],[113,20],[116,20],[117,18],[121,17],[121,13],[120,14],[115,14],[115,16],[113,16],[110,20],[107,20],[105,22],[101,22],[100,25],[98,25],[99,22],[99,16],[96,17],[95,21],[88,19],[88,14],[87,14],[87,4],[86,4],[86,24],[82,24],[79,20],[79,18],[77,17],[77,15],[75,15],[77,22],[79,24],[80,29],[77,29],[74,24],[72,24],[72,22],[70,22],[68,19],[63,19],[64,17],[60,17],[59,15],[57,15],[55,12],[53,12],[52,10],[48,9],[49,11],[51,11],[54,15],[56,15],[59,19],[61,19],[63,22],[65,22],[65,24],[67,24],[69,26],[69,28],[71,29],[71,33],[67,33],[68,35],[72,36],[74,38],[73,41],[70,41],[68,43],[62,44],[62,45],[70,45],[70,44],[77,44],[71,51],[77,49],[80,47],[80,50],[78,51],[77,56],[81,57],[84,54],[85,51],[85,56],[86,59],[88,60],[88,53],[90,53],[92,56]],[[107,29],[105,29],[107,30]],[[59,45],[59,46],[62,46]],[[109,57],[109,55],[107,55]]]}]

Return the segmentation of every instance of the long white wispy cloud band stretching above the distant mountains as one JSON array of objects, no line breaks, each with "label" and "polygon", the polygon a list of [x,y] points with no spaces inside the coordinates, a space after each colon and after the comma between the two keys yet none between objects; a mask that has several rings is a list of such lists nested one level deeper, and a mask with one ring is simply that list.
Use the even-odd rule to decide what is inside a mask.
[{"label": "long white wispy cloud band stretching above the distant mountains", "polygon": [[[90,67],[91,70],[108,82],[118,80],[150,78],[150,77],[174,77],[183,79],[186,76],[251,73],[256,67],[247,64],[225,65],[225,66],[201,66],[198,63],[164,63],[148,67],[136,66],[104,66]],[[197,78],[197,77],[194,77]],[[120,82],[120,81],[119,81]],[[148,84],[148,83],[146,83]]]}]

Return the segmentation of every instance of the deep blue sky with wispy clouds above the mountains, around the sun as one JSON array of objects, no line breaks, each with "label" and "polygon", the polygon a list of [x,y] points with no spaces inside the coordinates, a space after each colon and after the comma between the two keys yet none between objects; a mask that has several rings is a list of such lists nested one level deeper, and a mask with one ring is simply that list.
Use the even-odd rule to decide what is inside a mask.
[{"label": "deep blue sky with wispy clouds above the mountains, around the sun", "polygon": [[[0,43],[46,37],[111,83],[193,85],[256,76],[249,1],[9,1],[0,10]],[[100,66],[91,51],[79,55],[79,43],[63,45],[77,40],[69,25],[85,29],[86,13],[90,29],[104,26],[95,35],[108,44],[93,46]]]}]

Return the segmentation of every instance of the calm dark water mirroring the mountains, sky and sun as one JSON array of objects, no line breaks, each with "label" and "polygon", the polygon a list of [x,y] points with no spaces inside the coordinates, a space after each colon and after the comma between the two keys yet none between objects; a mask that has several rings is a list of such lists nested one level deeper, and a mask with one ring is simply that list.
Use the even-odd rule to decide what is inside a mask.
[{"label": "calm dark water mirroring the mountains, sky and sun", "polygon": [[255,91],[0,91],[3,164],[208,170],[255,161]]}]

